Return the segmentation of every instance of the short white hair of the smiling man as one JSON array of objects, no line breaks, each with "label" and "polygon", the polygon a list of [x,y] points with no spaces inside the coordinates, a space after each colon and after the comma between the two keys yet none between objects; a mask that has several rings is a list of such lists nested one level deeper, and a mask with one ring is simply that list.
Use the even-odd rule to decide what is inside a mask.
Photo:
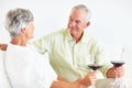
[{"label": "short white hair of the smiling man", "polygon": [[89,21],[91,18],[91,11],[85,4],[77,4],[73,9],[84,10],[87,13],[86,20]]}]

